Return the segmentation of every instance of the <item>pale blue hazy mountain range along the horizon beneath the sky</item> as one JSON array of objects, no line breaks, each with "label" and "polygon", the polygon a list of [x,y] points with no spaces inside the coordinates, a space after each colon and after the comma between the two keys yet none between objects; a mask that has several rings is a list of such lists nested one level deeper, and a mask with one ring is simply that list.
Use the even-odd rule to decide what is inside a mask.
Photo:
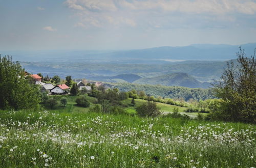
[{"label": "pale blue hazy mountain range along the horizon beneath the sky", "polygon": [[13,56],[14,61],[87,62],[116,64],[163,64],[179,60],[231,60],[236,59],[239,46],[246,55],[254,52],[256,43],[241,45],[193,44],[182,47],[155,47],[122,51],[41,50],[0,51]]}]

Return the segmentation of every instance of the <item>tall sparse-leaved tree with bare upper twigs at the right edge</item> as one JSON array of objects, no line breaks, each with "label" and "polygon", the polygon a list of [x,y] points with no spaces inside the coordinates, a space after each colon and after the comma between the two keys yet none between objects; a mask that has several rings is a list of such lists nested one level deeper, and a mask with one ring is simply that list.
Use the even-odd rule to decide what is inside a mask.
[{"label": "tall sparse-leaved tree with bare upper twigs at the right edge", "polygon": [[222,98],[219,119],[256,123],[256,64],[254,55],[237,53],[237,65],[227,62],[221,80],[214,85],[217,97]]}]

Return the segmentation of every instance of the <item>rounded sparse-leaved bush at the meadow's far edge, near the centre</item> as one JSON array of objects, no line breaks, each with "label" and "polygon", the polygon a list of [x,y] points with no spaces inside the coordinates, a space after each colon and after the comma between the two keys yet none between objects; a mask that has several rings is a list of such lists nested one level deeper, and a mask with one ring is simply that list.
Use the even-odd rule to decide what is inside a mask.
[{"label": "rounded sparse-leaved bush at the meadow's far edge, near the centre", "polygon": [[157,117],[161,114],[160,107],[157,106],[155,101],[150,101],[150,99],[138,106],[136,111],[141,117]]}]

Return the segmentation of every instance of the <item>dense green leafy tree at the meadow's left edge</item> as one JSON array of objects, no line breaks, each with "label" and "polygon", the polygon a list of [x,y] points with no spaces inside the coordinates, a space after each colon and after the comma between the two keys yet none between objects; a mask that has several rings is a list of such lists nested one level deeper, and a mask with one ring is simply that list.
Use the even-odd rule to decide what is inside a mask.
[{"label": "dense green leafy tree at the meadow's left edge", "polygon": [[0,108],[36,108],[40,102],[40,91],[25,78],[26,72],[12,57],[0,55]]}]

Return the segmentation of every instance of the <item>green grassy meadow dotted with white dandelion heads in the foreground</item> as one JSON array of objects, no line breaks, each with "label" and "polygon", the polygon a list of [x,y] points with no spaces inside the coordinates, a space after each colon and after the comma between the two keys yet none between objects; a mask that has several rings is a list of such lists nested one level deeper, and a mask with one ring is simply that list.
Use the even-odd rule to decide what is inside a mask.
[{"label": "green grassy meadow dotted with white dandelion heads in the foreground", "polygon": [[255,167],[255,125],[0,111],[0,167]]}]

